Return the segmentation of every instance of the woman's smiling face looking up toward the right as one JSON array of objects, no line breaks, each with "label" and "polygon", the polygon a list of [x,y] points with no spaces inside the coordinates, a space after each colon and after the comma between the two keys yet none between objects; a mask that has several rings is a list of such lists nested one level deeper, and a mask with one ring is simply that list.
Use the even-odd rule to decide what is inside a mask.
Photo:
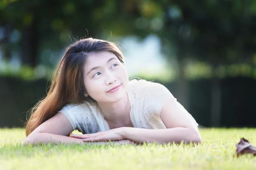
[{"label": "woman's smiling face looking up toward the right", "polygon": [[89,55],[83,78],[87,94],[97,102],[116,102],[126,96],[128,73],[112,52]]}]

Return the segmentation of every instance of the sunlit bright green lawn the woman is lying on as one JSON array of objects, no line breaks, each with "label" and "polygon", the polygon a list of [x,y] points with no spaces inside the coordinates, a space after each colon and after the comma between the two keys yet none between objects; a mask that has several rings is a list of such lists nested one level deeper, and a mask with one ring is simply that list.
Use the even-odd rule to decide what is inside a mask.
[{"label": "sunlit bright green lawn the woman is lying on", "polygon": [[0,170],[253,170],[256,157],[234,157],[244,137],[256,146],[256,129],[200,129],[192,145],[23,147],[22,129],[0,129]]}]

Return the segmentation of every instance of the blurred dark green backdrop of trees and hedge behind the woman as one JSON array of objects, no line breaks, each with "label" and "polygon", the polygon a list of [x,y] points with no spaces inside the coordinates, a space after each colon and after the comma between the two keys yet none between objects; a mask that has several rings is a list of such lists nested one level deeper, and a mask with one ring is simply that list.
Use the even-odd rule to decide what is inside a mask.
[{"label": "blurred dark green backdrop of trees and hedge behind the woman", "polygon": [[66,47],[119,42],[203,127],[255,127],[255,0],[0,0],[0,127],[23,127]]}]

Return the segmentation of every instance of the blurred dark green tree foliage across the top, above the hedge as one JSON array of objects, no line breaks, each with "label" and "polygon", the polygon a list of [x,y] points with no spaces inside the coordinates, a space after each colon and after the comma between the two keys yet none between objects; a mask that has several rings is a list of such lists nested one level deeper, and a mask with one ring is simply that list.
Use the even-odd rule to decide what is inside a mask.
[{"label": "blurred dark green tree foliage across the top, above the hedge", "polygon": [[254,0],[0,0],[0,6],[3,58],[17,52],[32,67],[54,67],[70,37],[108,39],[111,32],[156,34],[163,53],[178,61],[255,66]]}]

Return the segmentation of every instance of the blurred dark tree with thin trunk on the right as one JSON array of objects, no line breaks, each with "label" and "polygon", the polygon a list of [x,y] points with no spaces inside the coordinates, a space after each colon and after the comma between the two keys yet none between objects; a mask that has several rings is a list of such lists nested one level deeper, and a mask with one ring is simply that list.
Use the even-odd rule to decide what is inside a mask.
[{"label": "blurred dark tree with thin trunk on the right", "polygon": [[[170,13],[174,13],[173,3],[180,12],[179,18],[170,17]],[[212,65],[212,126],[221,123],[221,84],[217,67],[232,63],[252,64],[256,54],[255,9],[253,0],[172,1],[166,5],[165,32],[169,30],[175,37],[179,63],[183,63],[184,58],[196,58]],[[181,65],[180,69],[183,68]]]}]

